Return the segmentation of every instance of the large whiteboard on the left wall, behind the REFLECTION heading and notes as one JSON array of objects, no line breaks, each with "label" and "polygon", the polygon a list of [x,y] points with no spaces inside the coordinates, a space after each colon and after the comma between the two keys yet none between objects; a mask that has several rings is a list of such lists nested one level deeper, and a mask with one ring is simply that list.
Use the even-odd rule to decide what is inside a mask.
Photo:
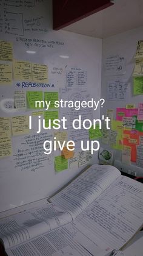
[{"label": "large whiteboard on the left wall, behind the REFLECTION heading and notes", "polygon": [[[0,85],[0,111],[1,117],[31,115],[32,110],[16,110],[13,108],[15,91],[60,91],[66,72],[71,68],[87,72],[88,93],[95,100],[100,99],[101,89],[101,58],[102,40],[73,34],[71,32],[52,30],[52,1],[30,0],[11,1],[2,0],[0,9],[0,38],[13,43],[13,59],[24,60],[48,66],[48,84],[36,88],[31,84],[13,80],[12,85]],[[13,6],[12,6],[13,5]],[[64,57],[63,57],[64,55]],[[62,56],[62,57],[61,57]],[[1,62],[4,63],[4,62]],[[64,67],[65,75],[62,82],[52,76],[53,66]],[[64,77],[65,76],[65,77]],[[65,81],[66,82],[66,81]],[[78,87],[76,89],[79,89]],[[100,108],[93,113],[99,118]],[[36,134],[36,119],[30,136]],[[52,132],[44,133],[42,140]],[[31,137],[30,137],[31,139]],[[27,204],[44,197],[51,196],[65,183],[72,179],[81,168],[66,169],[55,172],[54,157],[60,152],[44,158],[40,168],[22,168],[20,158],[21,149],[30,143],[28,135],[12,137],[12,156],[0,159],[0,211]],[[33,143],[35,146],[35,143]],[[38,149],[38,159],[40,150]],[[43,157],[43,155],[41,155]],[[97,162],[97,154],[90,163]],[[20,162],[19,162],[20,160]]]}]

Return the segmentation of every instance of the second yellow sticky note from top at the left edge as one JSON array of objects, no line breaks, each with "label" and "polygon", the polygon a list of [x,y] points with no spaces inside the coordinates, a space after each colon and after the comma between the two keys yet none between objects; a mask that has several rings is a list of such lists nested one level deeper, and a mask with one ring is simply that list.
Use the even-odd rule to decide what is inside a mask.
[{"label": "second yellow sticky note from top at the left edge", "polygon": [[12,84],[12,65],[0,64],[0,85]]}]

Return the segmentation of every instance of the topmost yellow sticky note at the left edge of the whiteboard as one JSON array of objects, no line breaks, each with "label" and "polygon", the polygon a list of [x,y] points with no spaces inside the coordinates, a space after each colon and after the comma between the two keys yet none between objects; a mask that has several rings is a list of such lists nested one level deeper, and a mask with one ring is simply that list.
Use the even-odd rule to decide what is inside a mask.
[{"label": "topmost yellow sticky note at the left edge of the whiteboard", "polygon": [[13,46],[8,41],[0,41],[0,60],[12,62],[13,60]]}]

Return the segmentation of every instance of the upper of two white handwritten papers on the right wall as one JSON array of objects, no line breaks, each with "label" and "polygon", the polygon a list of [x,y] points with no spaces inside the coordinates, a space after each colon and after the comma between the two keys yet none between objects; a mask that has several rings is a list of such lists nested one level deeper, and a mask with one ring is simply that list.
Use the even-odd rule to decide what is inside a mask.
[{"label": "upper of two white handwritten papers on the right wall", "polygon": [[105,62],[105,74],[125,74],[125,58],[119,55],[108,56]]}]

